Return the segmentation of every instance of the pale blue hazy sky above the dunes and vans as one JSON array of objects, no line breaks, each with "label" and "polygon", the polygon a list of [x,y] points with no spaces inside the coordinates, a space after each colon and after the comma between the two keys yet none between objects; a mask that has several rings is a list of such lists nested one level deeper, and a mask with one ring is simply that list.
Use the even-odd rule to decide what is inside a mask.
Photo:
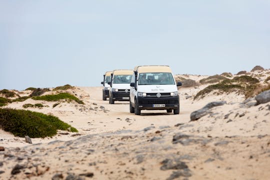
[{"label": "pale blue hazy sky above the dunes and vans", "polygon": [[0,0],[0,89],[99,86],[104,71],[270,68],[269,0]]}]

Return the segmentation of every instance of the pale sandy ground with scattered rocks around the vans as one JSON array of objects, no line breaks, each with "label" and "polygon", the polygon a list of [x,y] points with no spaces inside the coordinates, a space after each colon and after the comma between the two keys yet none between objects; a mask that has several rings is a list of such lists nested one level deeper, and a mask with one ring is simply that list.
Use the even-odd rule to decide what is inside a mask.
[{"label": "pale sandy ground with scattered rocks around the vans", "polygon": [[[29,145],[0,129],[0,146],[5,147],[0,151],[0,179],[57,179],[56,174],[59,179],[269,179],[270,103],[249,106],[236,93],[186,98],[205,86],[179,89],[177,115],[165,110],[131,114],[127,101],[103,101],[102,87],[70,90],[83,105],[61,102],[52,108],[55,102],[13,102],[8,107],[48,105],[27,109],[53,114],[79,132],[58,131],[53,137],[32,138]],[[221,100],[226,104],[190,121],[192,111]],[[22,167],[11,174],[16,164]]]}]

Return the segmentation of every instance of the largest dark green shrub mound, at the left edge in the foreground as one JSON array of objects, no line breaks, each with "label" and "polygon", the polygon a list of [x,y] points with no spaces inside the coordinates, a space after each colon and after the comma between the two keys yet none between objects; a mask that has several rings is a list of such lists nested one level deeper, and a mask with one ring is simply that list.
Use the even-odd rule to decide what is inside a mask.
[{"label": "largest dark green shrub mound, at the left edge in the foreground", "polygon": [[55,135],[57,129],[77,132],[77,129],[58,117],[30,110],[0,108],[0,126],[15,136],[46,137]]}]

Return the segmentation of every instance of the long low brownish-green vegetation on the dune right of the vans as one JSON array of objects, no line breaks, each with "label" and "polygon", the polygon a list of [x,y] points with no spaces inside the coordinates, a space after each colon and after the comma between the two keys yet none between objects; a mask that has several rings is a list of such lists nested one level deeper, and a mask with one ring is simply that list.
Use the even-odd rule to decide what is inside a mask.
[{"label": "long low brownish-green vegetation on the dune right of the vans", "polygon": [[218,90],[219,92],[229,93],[232,91],[237,91],[243,93],[245,97],[250,97],[256,93],[256,89],[259,88],[259,80],[247,75],[236,76],[233,79],[225,79],[217,84],[212,84],[204,89],[200,90],[194,99],[205,96],[205,94]]}]

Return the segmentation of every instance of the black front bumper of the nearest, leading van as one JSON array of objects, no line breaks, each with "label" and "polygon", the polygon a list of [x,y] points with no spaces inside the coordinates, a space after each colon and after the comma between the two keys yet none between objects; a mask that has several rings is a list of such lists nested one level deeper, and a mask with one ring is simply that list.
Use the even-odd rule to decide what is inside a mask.
[{"label": "black front bumper of the nearest, leading van", "polygon": [[[179,107],[179,96],[172,97],[137,97],[139,109],[163,110],[177,109]],[[154,107],[154,104],[164,104],[162,107]]]}]

